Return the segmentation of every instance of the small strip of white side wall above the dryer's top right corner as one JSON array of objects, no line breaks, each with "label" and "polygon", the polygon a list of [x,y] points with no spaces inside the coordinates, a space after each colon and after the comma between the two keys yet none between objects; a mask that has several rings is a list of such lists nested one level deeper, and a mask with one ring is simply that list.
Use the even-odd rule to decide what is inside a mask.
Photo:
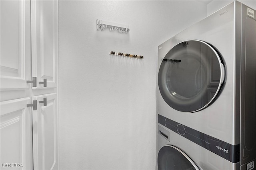
[{"label": "small strip of white side wall above the dryer's top right corner", "polygon": [[[234,0],[213,0],[209,4],[207,4],[207,16],[218,11],[219,9],[223,8],[224,6],[232,3]],[[256,9],[256,0],[238,0],[243,4]]]}]

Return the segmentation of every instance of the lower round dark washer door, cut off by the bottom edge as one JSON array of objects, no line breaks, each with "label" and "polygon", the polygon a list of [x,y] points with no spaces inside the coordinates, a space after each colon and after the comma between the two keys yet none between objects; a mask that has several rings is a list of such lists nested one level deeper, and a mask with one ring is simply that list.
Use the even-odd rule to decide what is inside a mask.
[{"label": "lower round dark washer door, cut off by the bottom edge", "polygon": [[158,170],[199,170],[188,155],[172,145],[159,150],[157,164]]}]

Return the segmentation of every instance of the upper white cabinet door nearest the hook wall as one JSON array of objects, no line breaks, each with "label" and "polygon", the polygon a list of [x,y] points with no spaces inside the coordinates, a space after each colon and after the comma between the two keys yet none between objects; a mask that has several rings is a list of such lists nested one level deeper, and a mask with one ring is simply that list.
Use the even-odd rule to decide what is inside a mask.
[{"label": "upper white cabinet door nearest the hook wall", "polygon": [[[38,88],[56,88],[58,1],[31,1],[32,76]],[[47,84],[42,84],[46,79]]]}]

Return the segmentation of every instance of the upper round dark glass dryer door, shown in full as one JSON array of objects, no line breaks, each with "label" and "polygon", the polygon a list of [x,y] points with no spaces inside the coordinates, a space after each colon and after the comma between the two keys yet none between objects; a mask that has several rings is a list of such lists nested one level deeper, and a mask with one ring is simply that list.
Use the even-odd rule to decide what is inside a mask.
[{"label": "upper round dark glass dryer door, shown in full", "polygon": [[222,58],[212,45],[189,40],[174,46],[166,54],[159,68],[158,86],[170,107],[196,112],[217,97],[224,74]]}]

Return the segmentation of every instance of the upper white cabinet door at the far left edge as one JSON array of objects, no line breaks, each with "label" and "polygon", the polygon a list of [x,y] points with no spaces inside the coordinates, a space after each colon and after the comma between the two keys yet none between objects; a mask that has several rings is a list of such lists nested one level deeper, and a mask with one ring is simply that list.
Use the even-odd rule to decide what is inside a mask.
[{"label": "upper white cabinet door at the far left edge", "polygon": [[1,90],[29,88],[31,80],[30,1],[0,1]]}]

